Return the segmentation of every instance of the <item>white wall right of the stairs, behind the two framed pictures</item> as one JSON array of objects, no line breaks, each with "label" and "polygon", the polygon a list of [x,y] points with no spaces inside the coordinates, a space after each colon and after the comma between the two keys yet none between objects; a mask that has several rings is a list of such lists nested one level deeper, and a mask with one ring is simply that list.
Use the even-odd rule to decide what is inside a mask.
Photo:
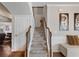
[{"label": "white wall right of the stairs, behind the two framed pictures", "polygon": [[[59,31],[59,13],[69,13],[69,31]],[[79,13],[79,6],[67,4],[47,5],[47,24],[52,32],[53,51],[59,51],[59,44],[67,43],[66,35],[79,35],[79,31],[74,31],[74,13]]]}]

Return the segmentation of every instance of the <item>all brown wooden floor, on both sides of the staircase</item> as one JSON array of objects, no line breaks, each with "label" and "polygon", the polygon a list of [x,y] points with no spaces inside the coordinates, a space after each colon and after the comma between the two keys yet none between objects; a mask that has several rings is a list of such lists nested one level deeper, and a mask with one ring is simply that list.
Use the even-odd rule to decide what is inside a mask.
[{"label": "all brown wooden floor, on both sides of the staircase", "polygon": [[[0,57],[24,57],[24,51],[15,51],[11,52],[11,49],[8,45],[0,46]],[[60,52],[54,52],[53,57],[64,57]]]}]

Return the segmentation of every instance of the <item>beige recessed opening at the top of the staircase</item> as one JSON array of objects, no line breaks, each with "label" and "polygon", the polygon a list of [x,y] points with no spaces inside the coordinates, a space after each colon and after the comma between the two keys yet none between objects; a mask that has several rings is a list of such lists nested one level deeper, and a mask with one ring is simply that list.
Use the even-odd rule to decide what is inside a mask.
[{"label": "beige recessed opening at the top of the staircase", "polygon": [[44,7],[32,7],[33,9],[33,15],[34,15],[34,18],[35,18],[35,27],[40,27],[40,20],[41,20],[41,17],[44,17],[43,16],[43,9]]}]

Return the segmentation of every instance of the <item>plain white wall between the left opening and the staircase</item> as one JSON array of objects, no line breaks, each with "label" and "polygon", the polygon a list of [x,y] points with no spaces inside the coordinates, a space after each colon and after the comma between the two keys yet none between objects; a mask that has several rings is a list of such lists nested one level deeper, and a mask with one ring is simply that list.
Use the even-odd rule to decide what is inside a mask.
[{"label": "plain white wall between the left opening and the staircase", "polygon": [[[21,50],[26,45],[26,32],[28,27],[33,23],[33,17],[31,15],[15,15],[13,23],[13,40],[12,50]],[[16,36],[17,35],[17,36]]]}]

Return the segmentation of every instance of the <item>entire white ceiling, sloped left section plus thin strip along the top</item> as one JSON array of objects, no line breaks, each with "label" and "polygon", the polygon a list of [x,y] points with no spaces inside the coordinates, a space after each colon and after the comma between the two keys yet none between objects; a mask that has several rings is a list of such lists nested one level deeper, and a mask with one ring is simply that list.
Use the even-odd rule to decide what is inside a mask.
[{"label": "entire white ceiling, sloped left section plus thin strip along the top", "polygon": [[[14,15],[29,15],[30,12],[30,6],[28,2],[2,2],[7,9],[12,12]],[[47,4],[79,4],[78,2],[32,2],[33,7],[38,6],[45,6]]]}]

